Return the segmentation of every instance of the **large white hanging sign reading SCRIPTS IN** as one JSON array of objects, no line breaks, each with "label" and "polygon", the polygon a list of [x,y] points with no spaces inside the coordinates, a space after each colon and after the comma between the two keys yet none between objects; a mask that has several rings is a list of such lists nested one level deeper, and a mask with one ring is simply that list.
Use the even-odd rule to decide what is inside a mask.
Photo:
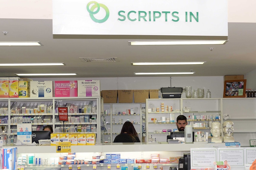
[{"label": "large white hanging sign reading SCRIPTS IN", "polygon": [[53,0],[53,35],[227,36],[227,0]]}]

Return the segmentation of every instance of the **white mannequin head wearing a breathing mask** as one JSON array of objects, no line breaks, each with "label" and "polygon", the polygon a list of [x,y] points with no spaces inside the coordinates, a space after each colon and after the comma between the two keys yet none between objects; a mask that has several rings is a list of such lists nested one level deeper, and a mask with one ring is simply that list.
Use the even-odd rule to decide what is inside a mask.
[{"label": "white mannequin head wearing a breathing mask", "polygon": [[223,136],[224,142],[235,142],[235,139],[233,137],[233,133],[234,133],[233,125],[234,123],[230,120],[223,122],[222,127],[224,132],[224,136]]}]

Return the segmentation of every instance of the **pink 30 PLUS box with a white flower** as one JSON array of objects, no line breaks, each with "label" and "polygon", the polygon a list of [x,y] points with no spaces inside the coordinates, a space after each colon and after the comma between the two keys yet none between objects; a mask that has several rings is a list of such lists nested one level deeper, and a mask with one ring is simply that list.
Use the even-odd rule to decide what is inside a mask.
[{"label": "pink 30 PLUS box with a white flower", "polygon": [[77,97],[77,80],[72,81],[55,81],[55,97]]}]

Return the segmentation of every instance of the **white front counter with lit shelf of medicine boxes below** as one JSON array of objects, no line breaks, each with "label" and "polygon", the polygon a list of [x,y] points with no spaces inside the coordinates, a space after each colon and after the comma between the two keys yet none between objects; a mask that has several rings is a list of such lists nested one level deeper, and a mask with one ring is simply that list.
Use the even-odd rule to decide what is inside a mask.
[{"label": "white front counter with lit shelf of medicine boxes below", "polygon": [[[96,163],[96,166],[103,166],[103,169],[107,169],[107,164],[111,164],[111,169],[116,169],[116,164],[120,163],[120,166],[131,166],[129,169],[132,169],[132,166],[138,166],[141,165],[143,169],[146,169],[146,165],[150,166],[150,169],[153,169],[154,163],[152,161],[160,162],[165,161],[166,163],[156,163],[158,168],[160,169],[169,169],[170,166],[178,166],[178,158],[183,156],[184,153],[188,153],[190,151],[190,148],[211,148],[211,147],[225,147],[224,143],[215,143],[215,144],[171,144],[172,147],[170,147],[170,144],[141,144],[141,143],[135,143],[135,144],[127,144],[125,145],[94,145],[94,146],[71,146],[72,153],[75,153],[75,155],[71,156],[72,153],[55,153],[54,150],[56,150],[56,146],[18,146],[18,153],[20,157],[25,157],[24,159],[21,158],[21,160],[25,160],[23,165],[25,168],[52,168],[52,167],[63,167],[67,168],[68,164],[62,164],[62,163],[73,163],[76,161],[80,161],[82,163],[91,163],[93,161],[93,158],[97,160],[94,160],[94,163]],[[86,153],[81,151],[86,151]],[[49,154],[50,153],[50,154]],[[68,155],[70,154],[70,155]],[[111,163],[111,158],[113,162]],[[28,157],[34,156],[34,164],[36,164],[35,159],[41,158],[43,163],[41,165],[32,165],[28,164]],[[64,161],[63,159],[70,157],[69,159],[73,159],[74,161]],[[119,158],[121,160],[119,160]],[[129,158],[130,162],[126,162]],[[136,163],[136,159],[138,162],[141,162],[142,160],[147,163]],[[157,160],[158,159],[158,160]],[[99,161],[103,161],[103,163],[99,163]],[[118,161],[118,162],[117,162]],[[132,161],[134,163],[132,163]],[[150,163],[151,161],[151,163]],[[59,164],[60,163],[60,164]],[[71,164],[71,166],[76,167],[76,164]],[[95,164],[81,164],[81,167],[92,167],[95,166]],[[96,168],[96,167],[95,167]],[[121,168],[120,168],[121,169]]]}]

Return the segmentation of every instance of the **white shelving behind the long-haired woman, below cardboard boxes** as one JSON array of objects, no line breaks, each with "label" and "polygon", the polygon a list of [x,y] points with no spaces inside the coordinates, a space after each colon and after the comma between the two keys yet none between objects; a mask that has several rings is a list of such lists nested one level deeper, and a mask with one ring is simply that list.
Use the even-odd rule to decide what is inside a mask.
[{"label": "white shelving behind the long-haired woman, below cardboard boxes", "polygon": [[[145,123],[142,121],[142,110],[144,103],[104,103],[105,131],[104,141],[112,143],[120,134],[124,122],[129,121],[134,125],[140,141],[142,142]],[[141,123],[142,122],[142,123]],[[110,137],[110,138],[109,138]]]}]

